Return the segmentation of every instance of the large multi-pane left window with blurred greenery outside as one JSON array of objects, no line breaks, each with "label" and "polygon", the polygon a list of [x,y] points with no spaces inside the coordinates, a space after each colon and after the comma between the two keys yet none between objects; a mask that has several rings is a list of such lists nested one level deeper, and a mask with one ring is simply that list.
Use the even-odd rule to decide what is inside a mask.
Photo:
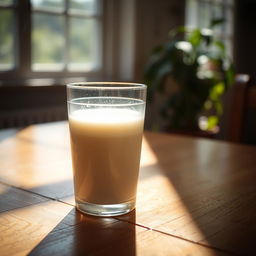
[{"label": "large multi-pane left window with blurred greenery outside", "polygon": [[1,77],[98,72],[103,65],[101,5],[100,0],[1,0]]}]

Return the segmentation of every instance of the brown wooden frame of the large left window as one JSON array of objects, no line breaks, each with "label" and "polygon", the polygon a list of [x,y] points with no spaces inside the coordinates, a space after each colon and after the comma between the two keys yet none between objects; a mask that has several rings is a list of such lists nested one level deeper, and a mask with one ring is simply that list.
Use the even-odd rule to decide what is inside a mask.
[{"label": "brown wooden frame of the large left window", "polygon": [[[67,1],[67,0],[65,0]],[[112,18],[111,16],[111,6],[114,0],[100,0],[99,8],[101,9],[101,14],[98,19],[101,20],[101,65],[99,69],[92,71],[68,71],[67,66],[61,71],[33,71],[32,70],[32,7],[30,0],[15,0],[15,10],[14,10],[14,23],[15,23],[15,58],[16,63],[14,69],[7,71],[0,71],[0,86],[1,85],[11,85],[11,84],[21,84],[26,85],[28,80],[34,79],[52,79],[53,84],[60,83],[65,84],[68,79],[77,78],[81,80],[95,80],[95,78],[107,77],[107,73],[111,71],[113,58],[109,58],[113,50],[112,43],[113,37],[106,37],[106,28],[111,28]],[[108,2],[108,5],[106,4]],[[4,7],[8,8],[8,7]],[[67,12],[65,10],[65,12]],[[69,14],[70,15],[70,14]],[[113,24],[112,24],[113,25]],[[113,29],[110,29],[110,34],[113,33]],[[67,29],[66,29],[67,30]],[[109,30],[109,29],[108,29]],[[109,33],[108,33],[109,34]],[[110,52],[109,52],[110,51]],[[106,53],[107,52],[107,53]],[[48,84],[49,82],[46,81]]]}]

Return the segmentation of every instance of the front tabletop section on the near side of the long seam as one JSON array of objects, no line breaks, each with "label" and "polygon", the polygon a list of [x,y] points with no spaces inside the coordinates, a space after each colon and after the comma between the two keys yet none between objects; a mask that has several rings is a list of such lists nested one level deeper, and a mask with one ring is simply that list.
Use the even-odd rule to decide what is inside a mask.
[{"label": "front tabletop section on the near side of the long seam", "polygon": [[[135,212],[126,215],[135,222]],[[0,214],[1,255],[226,255],[114,218],[86,216],[59,202]]]}]

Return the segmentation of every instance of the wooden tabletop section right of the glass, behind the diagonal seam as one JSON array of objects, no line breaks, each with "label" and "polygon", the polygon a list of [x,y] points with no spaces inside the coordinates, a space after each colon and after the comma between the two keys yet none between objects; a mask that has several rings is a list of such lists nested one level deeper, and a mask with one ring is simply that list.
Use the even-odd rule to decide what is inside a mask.
[{"label": "wooden tabletop section right of the glass, behind the diagonal seam", "polygon": [[256,253],[256,148],[146,138],[158,164],[139,183],[137,223],[234,253]]}]

